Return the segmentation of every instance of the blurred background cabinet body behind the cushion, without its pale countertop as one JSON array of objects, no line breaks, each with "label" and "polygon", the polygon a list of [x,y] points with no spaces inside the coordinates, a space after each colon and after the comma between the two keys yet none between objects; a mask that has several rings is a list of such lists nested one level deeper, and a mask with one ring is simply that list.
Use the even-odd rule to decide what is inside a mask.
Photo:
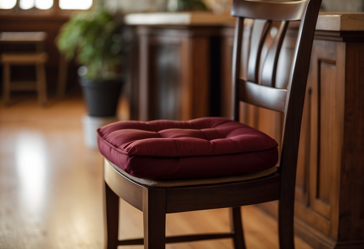
[{"label": "blurred background cabinet body behind the cushion, without its pale countertop", "polygon": [[219,53],[213,50],[218,28],[139,26],[137,34],[139,119],[210,115],[211,87],[219,83],[214,77]]}]

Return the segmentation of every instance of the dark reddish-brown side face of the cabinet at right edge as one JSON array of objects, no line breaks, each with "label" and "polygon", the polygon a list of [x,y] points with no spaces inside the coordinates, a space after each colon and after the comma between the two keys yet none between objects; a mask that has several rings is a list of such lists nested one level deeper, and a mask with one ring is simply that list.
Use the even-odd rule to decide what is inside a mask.
[{"label": "dark reddish-brown side face of the cabinet at right edge", "polygon": [[364,245],[364,49],[363,43],[347,44],[345,51],[344,141],[341,158],[338,240],[361,240]]}]

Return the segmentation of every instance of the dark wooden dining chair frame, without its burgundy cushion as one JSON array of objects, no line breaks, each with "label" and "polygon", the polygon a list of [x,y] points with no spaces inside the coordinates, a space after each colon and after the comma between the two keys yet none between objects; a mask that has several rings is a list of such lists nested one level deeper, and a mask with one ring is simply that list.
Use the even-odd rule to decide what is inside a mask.
[{"label": "dark wooden dining chair frame, without its burgundy cushion", "polygon": [[[120,165],[116,166],[105,156],[106,248],[144,244],[144,248],[161,249],[169,242],[217,238],[232,238],[234,248],[245,248],[240,207],[273,200],[279,200],[280,248],[294,248],[293,204],[297,151],[310,54],[320,4],[321,0],[233,1],[232,15],[237,17],[233,52],[233,119],[239,120],[239,101],[284,113],[284,133],[280,144],[282,153],[277,171],[273,167],[270,171],[238,176],[180,180],[142,179],[124,172]],[[252,41],[248,76],[243,79],[240,77],[240,62],[245,18],[256,21],[250,37]],[[292,69],[289,72],[288,88],[277,89],[275,75],[283,37],[289,22],[297,20],[301,20],[301,23]],[[261,62],[261,49],[272,21],[279,21],[281,24],[265,60]],[[102,129],[104,132],[108,127]],[[99,148],[106,155],[103,152],[102,132],[99,133]],[[108,135],[111,136],[112,133]],[[110,150],[116,149],[112,147]],[[144,238],[118,240],[119,197],[143,211]],[[166,213],[214,208],[231,208],[231,233],[165,237]]]}]

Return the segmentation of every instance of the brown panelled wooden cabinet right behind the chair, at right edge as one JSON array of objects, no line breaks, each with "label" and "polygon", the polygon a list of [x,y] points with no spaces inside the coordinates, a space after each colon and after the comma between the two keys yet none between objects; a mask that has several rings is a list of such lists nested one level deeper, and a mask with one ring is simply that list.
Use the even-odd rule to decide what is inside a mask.
[{"label": "brown panelled wooden cabinet right behind the chair, at right edge", "polygon": [[[350,19],[363,21],[363,15]],[[313,43],[297,165],[295,232],[313,248],[359,249],[364,248],[364,32],[350,31],[363,28],[355,22],[333,25],[331,18],[319,17],[318,27],[327,30],[317,30]],[[348,17],[336,18],[343,22]],[[289,44],[283,56],[289,57]],[[225,71],[222,102],[229,103]],[[280,114],[248,106],[242,112],[242,121],[280,137]],[[273,124],[266,122],[271,118]],[[277,216],[277,203],[261,207]]]}]

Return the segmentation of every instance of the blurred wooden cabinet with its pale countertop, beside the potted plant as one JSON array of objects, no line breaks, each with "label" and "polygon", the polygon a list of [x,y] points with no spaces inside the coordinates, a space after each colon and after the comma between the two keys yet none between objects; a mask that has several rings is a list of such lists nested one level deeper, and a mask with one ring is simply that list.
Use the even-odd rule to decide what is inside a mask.
[{"label": "blurred wooden cabinet with its pale countertop, beside the potted plant", "polygon": [[212,13],[129,14],[138,47],[131,117],[188,120],[219,115],[221,29],[232,17]]}]

